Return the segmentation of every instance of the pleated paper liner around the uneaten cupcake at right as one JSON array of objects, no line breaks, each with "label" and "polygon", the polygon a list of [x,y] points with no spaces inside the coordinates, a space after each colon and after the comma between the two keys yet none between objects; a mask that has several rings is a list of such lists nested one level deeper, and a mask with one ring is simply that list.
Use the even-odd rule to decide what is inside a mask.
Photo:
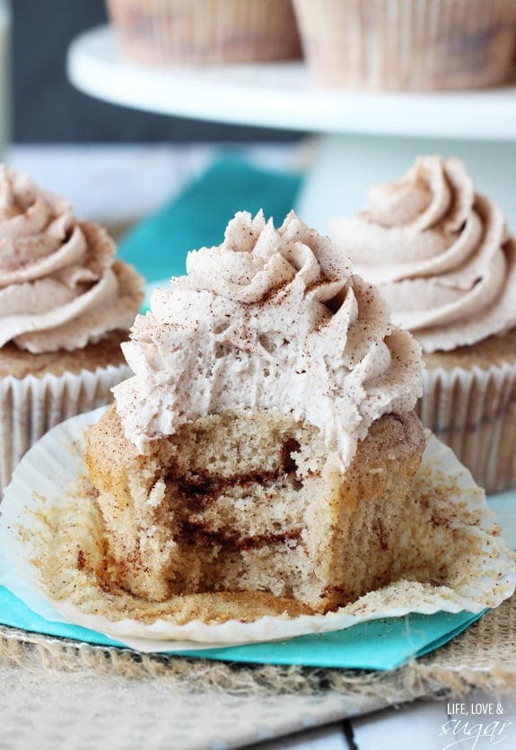
[{"label": "pleated paper liner around the uneaten cupcake at right", "polygon": [[516,486],[516,362],[424,371],[416,412],[486,493]]}]

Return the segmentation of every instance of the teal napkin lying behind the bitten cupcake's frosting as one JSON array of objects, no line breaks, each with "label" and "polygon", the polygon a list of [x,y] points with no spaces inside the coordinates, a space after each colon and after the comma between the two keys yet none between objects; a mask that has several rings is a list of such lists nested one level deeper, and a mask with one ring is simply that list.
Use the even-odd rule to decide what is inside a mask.
[{"label": "teal napkin lying behind the bitten cupcake's frosting", "polygon": [[118,255],[148,283],[186,273],[188,250],[219,245],[237,211],[263,209],[275,226],[293,208],[302,176],[264,170],[237,157],[214,161],[176,200],[140,222],[118,244]]}]

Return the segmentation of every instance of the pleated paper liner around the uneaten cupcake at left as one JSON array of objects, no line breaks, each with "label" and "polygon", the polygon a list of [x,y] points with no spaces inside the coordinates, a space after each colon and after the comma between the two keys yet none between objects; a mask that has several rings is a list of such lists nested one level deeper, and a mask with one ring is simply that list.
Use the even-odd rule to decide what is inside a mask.
[{"label": "pleated paper liner around the uneaten cupcake at left", "polygon": [[45,432],[75,414],[109,404],[111,388],[131,374],[121,364],[77,374],[0,379],[0,500],[14,467]]}]

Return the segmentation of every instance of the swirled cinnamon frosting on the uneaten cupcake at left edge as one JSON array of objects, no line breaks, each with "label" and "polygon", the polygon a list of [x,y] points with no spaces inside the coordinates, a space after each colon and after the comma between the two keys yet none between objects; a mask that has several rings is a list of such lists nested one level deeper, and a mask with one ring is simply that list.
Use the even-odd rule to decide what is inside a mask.
[{"label": "swirled cinnamon frosting on the uneaten cupcake at left edge", "polygon": [[128,329],[142,280],[98,224],[25,174],[0,167],[0,346],[73,351]]}]

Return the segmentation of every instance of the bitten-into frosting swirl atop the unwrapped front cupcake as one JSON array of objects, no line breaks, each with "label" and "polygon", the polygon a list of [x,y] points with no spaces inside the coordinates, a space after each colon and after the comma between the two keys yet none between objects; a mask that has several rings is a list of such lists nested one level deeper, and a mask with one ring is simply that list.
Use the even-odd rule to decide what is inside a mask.
[{"label": "bitten-into frosting swirl atop the unwrapped front cupcake", "polygon": [[220,246],[188,254],[187,271],[153,292],[123,344],[135,375],[114,392],[140,451],[188,420],[257,407],[316,425],[346,465],[374,420],[415,405],[419,345],[295,214],[279,229],[236,214]]}]

